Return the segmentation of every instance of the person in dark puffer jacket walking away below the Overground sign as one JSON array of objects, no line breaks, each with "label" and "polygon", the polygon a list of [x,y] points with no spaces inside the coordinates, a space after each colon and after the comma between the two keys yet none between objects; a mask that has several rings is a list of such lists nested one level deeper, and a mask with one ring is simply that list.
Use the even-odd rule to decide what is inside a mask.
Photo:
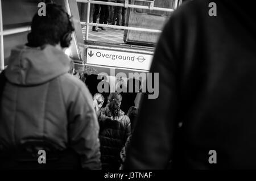
[{"label": "person in dark puffer jacket walking away below the Overground sign", "polygon": [[120,109],[122,96],[113,92],[108,97],[108,104],[101,109],[100,150],[103,170],[119,169],[120,151],[131,134],[130,119]]}]

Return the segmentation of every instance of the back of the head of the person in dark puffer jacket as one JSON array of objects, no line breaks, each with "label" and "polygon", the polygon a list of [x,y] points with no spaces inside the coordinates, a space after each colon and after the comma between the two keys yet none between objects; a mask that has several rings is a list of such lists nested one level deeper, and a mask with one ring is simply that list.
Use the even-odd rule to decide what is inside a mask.
[{"label": "back of the head of the person in dark puffer jacket", "polygon": [[120,106],[122,102],[122,96],[118,92],[112,92],[108,96],[108,107],[113,117],[118,116]]}]

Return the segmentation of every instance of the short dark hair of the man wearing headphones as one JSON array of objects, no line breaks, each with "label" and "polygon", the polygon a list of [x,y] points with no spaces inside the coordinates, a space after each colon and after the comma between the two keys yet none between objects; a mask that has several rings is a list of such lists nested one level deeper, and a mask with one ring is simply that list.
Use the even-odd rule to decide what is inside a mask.
[{"label": "short dark hair of the man wearing headphones", "polygon": [[[41,47],[45,44],[56,45],[61,43],[63,37],[74,31],[69,15],[56,4],[46,4],[46,16],[36,13],[32,19],[31,32],[28,34],[29,47]],[[68,40],[68,44],[71,39]]]}]

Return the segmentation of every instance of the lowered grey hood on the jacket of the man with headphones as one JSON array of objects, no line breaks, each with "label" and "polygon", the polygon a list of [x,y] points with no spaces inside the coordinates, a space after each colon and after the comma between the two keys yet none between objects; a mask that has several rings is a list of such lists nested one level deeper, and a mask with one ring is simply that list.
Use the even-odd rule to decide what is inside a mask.
[{"label": "lowered grey hood on the jacket of the man with headphones", "polygon": [[38,48],[19,45],[11,51],[5,75],[16,85],[40,85],[67,73],[70,65],[68,56],[52,45]]}]

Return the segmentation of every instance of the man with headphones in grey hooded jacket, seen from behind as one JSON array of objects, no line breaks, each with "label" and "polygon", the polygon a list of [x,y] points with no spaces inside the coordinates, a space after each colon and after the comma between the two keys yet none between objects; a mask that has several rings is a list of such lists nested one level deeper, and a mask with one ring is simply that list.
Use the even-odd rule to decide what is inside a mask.
[{"label": "man with headphones in grey hooded jacket, seen from behind", "polygon": [[63,51],[73,30],[67,12],[47,4],[46,16],[32,20],[28,43],[11,51],[0,102],[1,168],[101,169],[92,95],[68,73]]}]

